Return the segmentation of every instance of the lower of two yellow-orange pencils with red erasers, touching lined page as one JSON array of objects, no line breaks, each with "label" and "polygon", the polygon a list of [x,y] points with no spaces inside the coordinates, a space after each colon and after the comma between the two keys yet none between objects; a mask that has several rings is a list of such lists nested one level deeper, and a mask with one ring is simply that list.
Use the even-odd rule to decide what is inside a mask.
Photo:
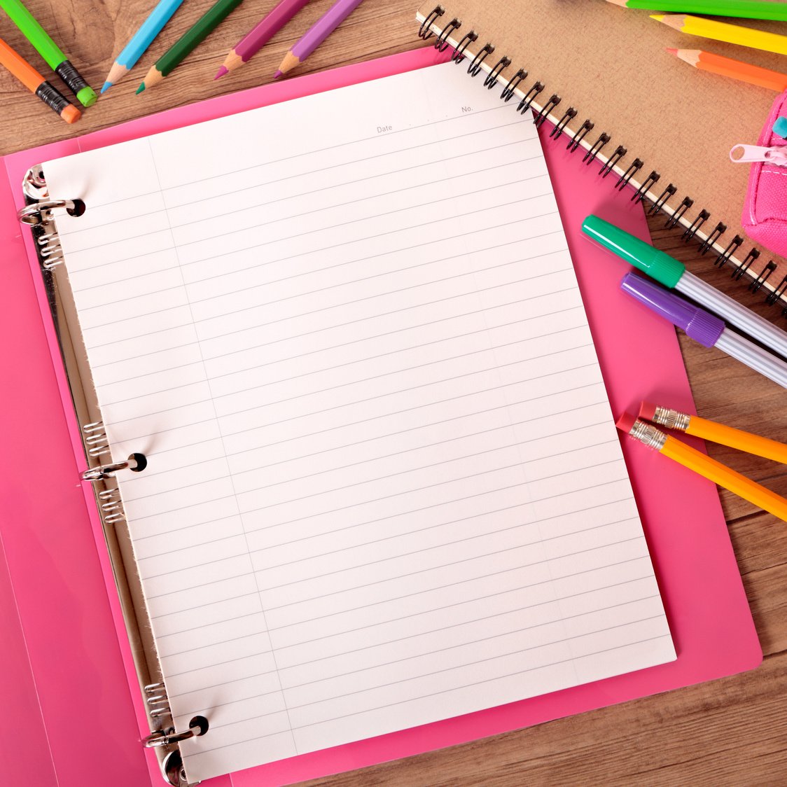
[{"label": "lower of two yellow-orange pencils with red erasers, touching lined page", "polygon": [[630,438],[663,453],[664,456],[669,456],[671,460],[682,464],[683,467],[688,467],[689,470],[699,473],[709,481],[723,486],[724,489],[730,490],[738,497],[743,497],[744,500],[762,508],[763,511],[770,512],[787,522],[787,500],[784,497],[767,490],[764,486],[752,481],[751,478],[737,473],[726,464],[717,462],[710,456],[705,456],[704,453],[671,437],[651,423],[635,418],[630,413],[623,413],[617,427],[622,432],[626,432]]}]

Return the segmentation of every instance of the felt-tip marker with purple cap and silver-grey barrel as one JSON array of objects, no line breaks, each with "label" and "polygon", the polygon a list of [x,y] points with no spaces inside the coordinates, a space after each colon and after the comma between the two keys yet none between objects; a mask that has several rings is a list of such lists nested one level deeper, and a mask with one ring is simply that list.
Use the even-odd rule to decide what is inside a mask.
[{"label": "felt-tip marker with purple cap and silver-grey barrel", "polygon": [[716,347],[777,382],[782,388],[787,388],[787,364],[759,345],[749,342],[741,334],[730,331],[719,317],[635,273],[623,276],[620,289],[656,314],[666,317],[695,342],[700,342],[704,347]]}]

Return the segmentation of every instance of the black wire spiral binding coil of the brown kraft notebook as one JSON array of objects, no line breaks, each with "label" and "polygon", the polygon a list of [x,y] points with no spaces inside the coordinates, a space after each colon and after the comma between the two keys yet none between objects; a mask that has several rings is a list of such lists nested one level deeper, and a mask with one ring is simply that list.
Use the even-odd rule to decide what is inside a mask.
[{"label": "black wire spiral binding coil of the brown kraft notebook", "polygon": [[[470,58],[471,62],[467,68],[467,73],[470,76],[478,76],[482,70],[485,70],[486,77],[484,79],[484,87],[489,90],[492,90],[498,82],[503,83],[504,87],[500,97],[504,102],[510,101],[515,93],[521,95],[522,98],[519,101],[519,105],[516,107],[517,111],[524,114],[532,107],[532,109],[534,109],[534,124],[536,124],[537,127],[541,126],[541,124],[543,124],[552,114],[552,110],[560,104],[560,94],[547,94],[549,98],[539,109],[537,99],[538,96],[545,91],[545,83],[534,80],[530,84],[530,87],[527,87],[528,72],[524,68],[518,68],[512,76],[506,79],[504,72],[506,69],[512,68],[511,59],[504,55],[503,57],[496,58],[494,61],[489,61],[490,63],[494,62],[495,65],[486,65],[488,58],[495,50],[494,45],[490,42],[486,42],[480,49],[475,50],[474,53],[471,49],[474,49],[473,44],[478,41],[478,33],[475,30],[469,30],[460,35],[462,21],[456,17],[452,17],[444,27],[441,27],[440,22],[444,16],[445,8],[443,8],[443,6],[434,6],[434,9],[432,9],[423,19],[423,23],[418,33],[419,37],[426,41],[430,39],[432,35],[437,35],[434,47],[440,51],[451,46],[453,43],[452,39],[456,41],[456,43],[453,43],[454,50],[451,59],[456,63],[460,63],[464,61],[466,57]],[[564,134],[567,135],[567,150],[574,153],[582,146],[586,151],[582,157],[582,162],[589,166],[600,157],[601,150],[604,146],[611,142],[611,136],[608,135],[606,131],[601,131],[595,142],[593,142],[592,145],[588,144],[586,142],[586,136],[593,130],[593,121],[590,119],[585,120],[576,131],[574,131],[571,128],[571,123],[577,116],[578,110],[575,109],[575,107],[572,106],[567,109],[560,120],[557,120],[549,137],[552,141],[557,141]],[[599,170],[600,175],[606,178],[616,167],[623,169],[623,175],[619,176],[619,179],[615,182],[615,188],[619,190],[623,190],[623,188],[626,187],[645,166],[645,162],[638,158],[634,158],[634,160],[626,164],[624,168],[621,162],[627,154],[628,150],[625,146],[616,146],[615,150],[606,161],[602,158],[603,163]],[[645,170],[645,172],[647,172],[647,170]],[[658,216],[662,211],[667,212],[669,216],[664,226],[669,228],[676,227],[685,213],[693,208],[694,201],[692,198],[685,196],[680,199],[677,205],[671,207],[669,204],[670,201],[678,194],[678,187],[674,186],[673,183],[665,187],[660,196],[653,198],[650,192],[658,180],[660,180],[660,174],[653,170],[644,179],[641,185],[637,187],[631,199],[634,202],[647,200],[650,203],[650,208],[648,209],[648,214],[650,216]],[[711,214],[707,210],[700,209],[682,235],[682,239],[686,243],[696,240],[700,246],[700,253],[703,254],[708,253],[711,248],[721,242],[722,235],[724,235],[727,230],[726,224],[719,222],[708,235],[704,237],[700,235],[702,227],[704,227],[710,218]],[[724,251],[719,253],[719,256],[715,260],[715,265],[721,268],[726,262],[730,261],[733,255],[740,249],[743,242],[743,238],[736,235],[727,243]],[[759,291],[767,283],[770,275],[777,267],[773,260],[769,260],[759,274],[752,272],[752,263],[757,260],[759,256],[760,253],[757,249],[750,249],[743,262],[737,265],[732,273],[733,279],[736,280],[740,280],[744,275],[748,275],[749,279],[751,279],[748,284],[748,289],[752,292]],[[787,317],[787,275],[785,275],[781,283],[773,290],[770,290],[770,285],[766,287],[766,290],[769,290],[765,297],[767,303],[770,305],[781,305],[781,315]]]}]

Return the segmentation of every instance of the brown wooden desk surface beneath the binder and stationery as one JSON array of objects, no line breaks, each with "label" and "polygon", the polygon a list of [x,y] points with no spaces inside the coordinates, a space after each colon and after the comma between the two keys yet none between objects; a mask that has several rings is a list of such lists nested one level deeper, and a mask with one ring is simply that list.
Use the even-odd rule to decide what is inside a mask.
[{"label": "brown wooden desk surface beneath the binder and stationery", "polygon": [[[187,59],[166,83],[135,96],[152,62],[208,8],[212,0],[188,0],[142,57],[131,75],[88,109],[75,126],[63,123],[0,72],[0,154],[65,139],[174,105],[253,87],[270,80],[297,37],[329,6],[314,0],[297,20],[239,72],[213,82],[224,55],[272,0],[247,0]],[[113,57],[153,5],[153,0],[28,0],[28,6],[61,43],[94,86],[104,81]],[[504,7],[503,2],[500,3]],[[366,0],[301,73],[368,60],[421,45],[415,0]],[[46,74],[35,52],[6,17],[0,37]],[[53,77],[57,83],[57,78]],[[684,246],[680,234],[651,220],[653,241],[704,279],[781,322],[746,292],[729,268]],[[756,264],[757,265],[757,264]],[[759,263],[761,267],[762,263]],[[758,268],[759,270],[759,268]],[[778,271],[774,281],[787,272]],[[785,391],[714,349],[682,337],[682,352],[698,411],[737,427],[787,440]],[[787,495],[787,472],[767,460],[718,446],[711,456]],[[650,696],[527,730],[443,749],[423,756],[340,774],[312,784],[332,785],[563,785],[585,781],[616,785],[777,785],[787,782],[787,525],[722,492],[730,535],[763,645],[761,667],[747,674]],[[691,523],[686,523],[691,527]]]}]

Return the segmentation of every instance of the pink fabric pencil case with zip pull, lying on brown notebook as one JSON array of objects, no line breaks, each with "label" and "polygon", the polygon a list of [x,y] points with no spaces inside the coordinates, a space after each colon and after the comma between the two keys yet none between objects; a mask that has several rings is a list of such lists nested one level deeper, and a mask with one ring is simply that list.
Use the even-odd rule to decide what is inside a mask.
[{"label": "pink fabric pencil case with zip pull, lying on brown notebook", "polygon": [[730,158],[752,162],[742,220],[749,238],[787,257],[787,139],[773,131],[774,122],[783,115],[787,115],[787,91],[771,107],[757,146],[736,145]]}]

